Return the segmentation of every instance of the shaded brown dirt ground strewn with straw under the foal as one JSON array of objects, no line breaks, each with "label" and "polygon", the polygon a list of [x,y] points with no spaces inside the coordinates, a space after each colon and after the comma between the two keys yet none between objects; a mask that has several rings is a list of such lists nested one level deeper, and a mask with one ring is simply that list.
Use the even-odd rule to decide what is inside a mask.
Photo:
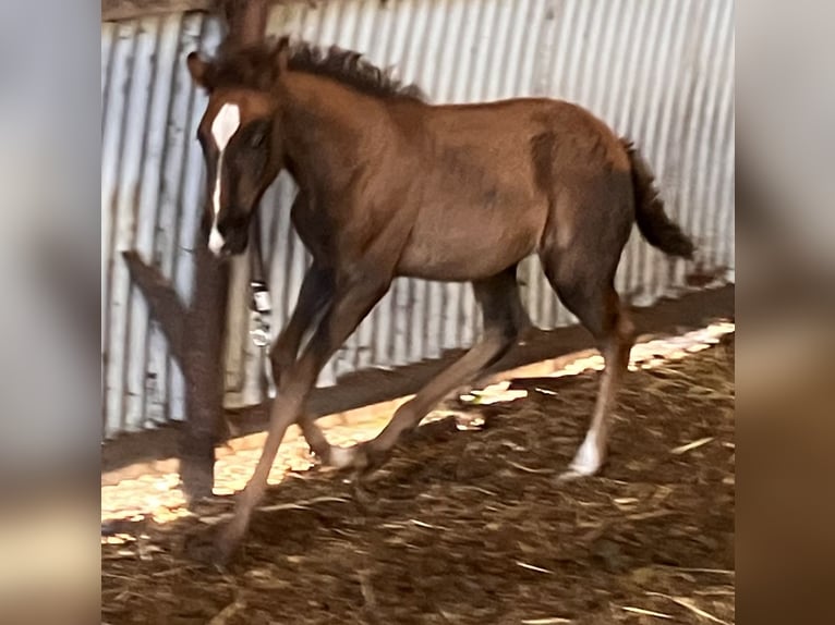
[{"label": "shaded brown dirt ground strewn with straw under the foal", "polygon": [[597,373],[516,381],[477,428],[421,427],[363,497],[291,474],[228,572],[192,557],[209,513],[104,543],[102,622],[733,623],[733,336],[628,375],[598,477],[556,481]]}]

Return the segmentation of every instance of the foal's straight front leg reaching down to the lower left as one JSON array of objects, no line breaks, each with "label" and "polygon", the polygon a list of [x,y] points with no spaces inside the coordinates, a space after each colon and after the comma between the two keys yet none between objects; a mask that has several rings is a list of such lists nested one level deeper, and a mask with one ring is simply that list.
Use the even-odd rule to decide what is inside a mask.
[{"label": "foal's straight front leg reaching down to the lower left", "polygon": [[273,402],[269,431],[261,458],[246,488],[240,493],[234,517],[218,537],[216,559],[219,563],[232,555],[246,534],[252,512],[267,487],[267,477],[281,439],[287,428],[303,414],[307,395],[319,371],[383,297],[390,281],[389,275],[373,273],[342,281],[335,290],[332,304],[325,311],[304,353],[282,373]]}]

